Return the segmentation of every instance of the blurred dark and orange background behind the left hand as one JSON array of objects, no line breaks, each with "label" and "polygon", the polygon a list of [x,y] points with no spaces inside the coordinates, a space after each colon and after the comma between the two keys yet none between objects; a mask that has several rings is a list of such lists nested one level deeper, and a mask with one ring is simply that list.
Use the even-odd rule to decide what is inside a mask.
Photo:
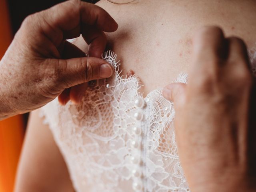
[{"label": "blurred dark and orange background behind the left hand", "polygon": [[[0,0],[0,59],[26,16],[65,0]],[[98,0],[83,0],[95,3]],[[0,192],[12,192],[28,114],[0,121]]]}]

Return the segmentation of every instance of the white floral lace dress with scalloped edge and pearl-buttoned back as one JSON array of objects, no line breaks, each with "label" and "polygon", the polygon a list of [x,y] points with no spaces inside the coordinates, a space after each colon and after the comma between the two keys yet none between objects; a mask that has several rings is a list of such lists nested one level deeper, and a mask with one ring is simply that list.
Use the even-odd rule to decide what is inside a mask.
[{"label": "white floral lace dress with scalloped edge and pearl-buttoned back", "polygon": [[[104,60],[115,74],[90,84],[80,105],[55,99],[41,110],[76,192],[189,192],[172,102],[161,90],[142,98],[138,78],[120,76],[116,55],[106,52]],[[181,74],[176,82],[186,80]]]}]

